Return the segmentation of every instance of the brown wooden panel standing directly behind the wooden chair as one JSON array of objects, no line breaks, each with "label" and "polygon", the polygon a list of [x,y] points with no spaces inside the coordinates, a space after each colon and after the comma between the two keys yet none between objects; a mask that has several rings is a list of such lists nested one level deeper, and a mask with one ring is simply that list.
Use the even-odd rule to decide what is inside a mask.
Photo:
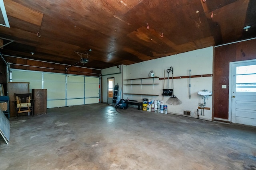
[{"label": "brown wooden panel standing directly behind the wooden chair", "polygon": [[9,82],[10,117],[16,116],[14,93],[29,93],[29,82]]}]

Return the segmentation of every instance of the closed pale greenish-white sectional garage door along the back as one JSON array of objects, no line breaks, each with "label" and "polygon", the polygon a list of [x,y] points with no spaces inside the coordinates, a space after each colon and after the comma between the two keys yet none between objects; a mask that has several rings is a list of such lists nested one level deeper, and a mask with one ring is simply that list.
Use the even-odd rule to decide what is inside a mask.
[{"label": "closed pale greenish-white sectional garage door along the back", "polygon": [[99,102],[99,77],[12,69],[11,82],[29,82],[29,90],[47,89],[47,108]]}]

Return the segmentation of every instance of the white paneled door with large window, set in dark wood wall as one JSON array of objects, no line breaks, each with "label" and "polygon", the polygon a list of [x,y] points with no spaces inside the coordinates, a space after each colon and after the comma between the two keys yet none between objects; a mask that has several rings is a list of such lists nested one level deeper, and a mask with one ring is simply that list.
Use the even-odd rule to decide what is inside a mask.
[{"label": "white paneled door with large window, set in dark wood wall", "polygon": [[230,63],[231,122],[256,126],[256,60]]}]

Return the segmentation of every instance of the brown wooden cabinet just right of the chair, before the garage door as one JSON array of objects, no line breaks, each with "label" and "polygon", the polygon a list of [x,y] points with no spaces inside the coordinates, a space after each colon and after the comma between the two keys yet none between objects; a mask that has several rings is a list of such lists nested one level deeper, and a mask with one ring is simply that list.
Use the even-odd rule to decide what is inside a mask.
[{"label": "brown wooden cabinet just right of the chair, before the garage door", "polygon": [[47,112],[47,89],[32,89],[34,100],[34,115],[42,115]]}]

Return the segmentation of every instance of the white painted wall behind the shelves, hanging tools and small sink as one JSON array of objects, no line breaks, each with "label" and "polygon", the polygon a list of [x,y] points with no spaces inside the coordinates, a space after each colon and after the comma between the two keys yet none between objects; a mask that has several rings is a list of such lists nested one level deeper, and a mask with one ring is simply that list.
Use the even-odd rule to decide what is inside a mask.
[{"label": "white painted wall behind the shelves, hanging tools and small sink", "polygon": [[[198,49],[195,51],[189,51],[186,53],[181,53],[177,55],[172,55],[168,57],[162,57],[159,59],[154,59],[150,61],[144,61],[141,63],[131,64],[124,66],[123,70],[123,84],[130,84],[132,78],[146,78],[151,70],[154,71],[155,76],[160,78],[164,77],[164,69],[170,69],[173,67],[173,76],[188,76],[189,70],[191,69],[191,75],[201,75],[201,74],[212,74],[213,68],[213,47],[208,47],[204,49]],[[114,73],[119,70],[116,68],[108,68],[102,70],[102,74],[107,74],[107,72]],[[115,76],[120,74],[116,74]],[[172,76],[171,72],[169,76]],[[167,77],[167,72],[165,73]],[[103,82],[106,78],[103,77]],[[142,83],[152,83],[152,79],[144,79]],[[122,83],[120,79],[116,81],[115,84]],[[133,80],[133,84],[141,83],[141,80]],[[159,78],[154,79],[154,83],[159,83],[158,85],[123,85],[123,93],[140,93],[140,94],[158,94],[159,96],[141,96],[141,95],[123,95],[123,98],[127,97],[130,100],[142,101],[143,98],[148,98],[151,100],[162,100],[162,89],[167,88],[167,80],[159,80]],[[102,87],[106,88],[106,84],[102,83]],[[172,79],[169,80],[169,88],[172,88]],[[168,105],[168,113],[174,113],[178,115],[183,115],[183,111],[191,111],[191,117],[197,117],[197,108],[199,103],[203,103],[202,97],[197,95],[200,90],[212,91],[212,77],[200,77],[191,78],[191,98],[189,99],[189,78],[174,79],[174,94],[178,99],[182,101],[181,105],[171,106]],[[106,101],[107,92],[103,92],[103,98]],[[164,96],[164,101],[168,100],[168,96]],[[204,116],[201,116],[199,109],[200,119],[212,120],[212,96],[206,99],[206,106],[210,107],[210,110],[204,110]]]}]

